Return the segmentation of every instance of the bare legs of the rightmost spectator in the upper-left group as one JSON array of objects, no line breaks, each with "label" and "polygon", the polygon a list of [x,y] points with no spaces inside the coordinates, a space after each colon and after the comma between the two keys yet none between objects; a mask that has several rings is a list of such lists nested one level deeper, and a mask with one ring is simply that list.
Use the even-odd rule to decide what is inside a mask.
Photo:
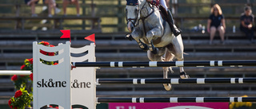
[{"label": "bare legs of the rightmost spectator in the upper-left group", "polygon": [[78,0],[63,0],[63,13],[64,13],[64,16],[66,17],[66,6],[68,4],[74,4],[76,6],[77,16],[79,17],[80,16],[80,14],[79,14],[80,5],[79,5]]}]

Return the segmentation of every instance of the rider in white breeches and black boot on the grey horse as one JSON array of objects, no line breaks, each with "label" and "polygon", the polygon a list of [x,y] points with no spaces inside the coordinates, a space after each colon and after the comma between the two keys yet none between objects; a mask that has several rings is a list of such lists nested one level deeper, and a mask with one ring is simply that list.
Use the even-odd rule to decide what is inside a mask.
[{"label": "rider in white breeches and black boot on the grey horse", "polygon": [[177,37],[182,31],[180,31],[177,28],[174,28],[174,18],[172,14],[170,13],[170,10],[168,10],[168,7],[166,6],[166,1],[165,0],[146,0],[147,2],[150,2],[150,4],[154,6],[158,6],[159,3],[161,6],[163,6],[166,9],[167,12],[167,22],[170,25],[171,31],[174,33],[174,36]]}]

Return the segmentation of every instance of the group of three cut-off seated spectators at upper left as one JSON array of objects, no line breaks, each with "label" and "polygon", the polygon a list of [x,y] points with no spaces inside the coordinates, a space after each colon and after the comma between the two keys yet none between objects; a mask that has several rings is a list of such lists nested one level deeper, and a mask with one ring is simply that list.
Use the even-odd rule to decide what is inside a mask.
[{"label": "group of three cut-off seated spectators at upper left", "polygon": [[[39,0],[24,0],[27,6],[31,7],[31,17],[37,17],[38,15],[35,14],[35,6],[38,4]],[[53,17],[52,10],[54,10],[54,15],[58,14],[61,10],[58,9],[55,0],[42,0],[43,4],[48,6],[48,17]],[[79,2],[78,0],[62,0],[63,5],[63,16],[66,17],[66,6],[68,4],[74,4],[77,10],[77,16],[79,17]]]}]

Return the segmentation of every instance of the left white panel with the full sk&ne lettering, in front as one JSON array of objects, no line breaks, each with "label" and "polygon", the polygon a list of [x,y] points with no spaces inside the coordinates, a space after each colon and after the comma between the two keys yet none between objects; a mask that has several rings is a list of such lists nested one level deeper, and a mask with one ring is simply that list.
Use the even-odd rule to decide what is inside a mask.
[{"label": "left white panel with the full sk&ne lettering, in front", "polygon": [[[63,50],[57,56],[46,56],[40,50],[56,53]],[[70,87],[70,42],[57,47],[46,47],[33,43],[33,95],[34,108],[41,108],[49,104],[57,104],[69,109],[71,107]],[[40,60],[58,61],[56,65],[43,64]]]}]

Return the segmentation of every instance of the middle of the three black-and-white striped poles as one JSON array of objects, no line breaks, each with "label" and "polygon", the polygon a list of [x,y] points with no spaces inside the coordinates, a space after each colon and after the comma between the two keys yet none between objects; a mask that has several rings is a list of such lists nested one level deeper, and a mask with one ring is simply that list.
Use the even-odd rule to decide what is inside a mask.
[{"label": "middle of the three black-and-white striped poles", "polygon": [[256,78],[97,79],[97,84],[246,84]]}]

